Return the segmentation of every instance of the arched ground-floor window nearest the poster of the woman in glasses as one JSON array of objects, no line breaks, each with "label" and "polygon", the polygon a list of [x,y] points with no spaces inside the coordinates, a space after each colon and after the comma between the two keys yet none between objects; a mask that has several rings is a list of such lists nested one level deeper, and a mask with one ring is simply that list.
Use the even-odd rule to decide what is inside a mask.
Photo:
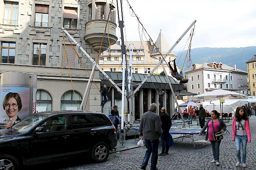
[{"label": "arched ground-floor window nearest the poster of the woman in glasses", "polygon": [[46,111],[52,111],[52,97],[48,92],[45,90],[37,90],[36,99],[37,107],[46,107]]}]

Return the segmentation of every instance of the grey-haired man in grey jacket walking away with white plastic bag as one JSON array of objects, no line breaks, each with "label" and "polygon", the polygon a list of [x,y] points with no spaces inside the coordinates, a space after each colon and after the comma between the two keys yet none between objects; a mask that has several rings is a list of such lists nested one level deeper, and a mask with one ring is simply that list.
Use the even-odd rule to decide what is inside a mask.
[{"label": "grey-haired man in grey jacket walking away with white plastic bag", "polygon": [[139,125],[139,137],[145,139],[145,145],[147,148],[145,157],[141,169],[146,170],[149,157],[151,157],[150,170],[157,170],[156,164],[158,160],[158,144],[161,136],[161,119],[156,114],[157,105],[152,103],[149,107],[149,111],[142,115],[141,123]]}]

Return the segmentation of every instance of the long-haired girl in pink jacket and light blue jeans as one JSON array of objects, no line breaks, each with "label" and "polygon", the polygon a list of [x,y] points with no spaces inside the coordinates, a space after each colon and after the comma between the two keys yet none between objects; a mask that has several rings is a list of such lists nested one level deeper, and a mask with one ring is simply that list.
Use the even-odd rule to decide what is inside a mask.
[{"label": "long-haired girl in pink jacket and light blue jeans", "polygon": [[249,118],[245,110],[243,109],[243,107],[236,108],[236,114],[232,123],[232,138],[233,138],[233,141],[236,140],[236,156],[237,156],[236,166],[239,166],[241,164],[240,145],[242,143],[242,150],[243,150],[242,164],[243,164],[243,167],[246,167],[245,165],[246,145],[247,145],[247,141],[249,143],[251,142],[251,137],[250,137]]}]

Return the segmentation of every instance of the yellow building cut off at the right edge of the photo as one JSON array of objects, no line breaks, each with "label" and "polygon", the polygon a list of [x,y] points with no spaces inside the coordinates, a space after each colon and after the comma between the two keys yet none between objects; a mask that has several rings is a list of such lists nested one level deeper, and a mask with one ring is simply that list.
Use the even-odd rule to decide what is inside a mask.
[{"label": "yellow building cut off at the right edge of the photo", "polygon": [[247,62],[248,70],[248,85],[250,89],[250,94],[255,96],[256,92],[256,54]]}]

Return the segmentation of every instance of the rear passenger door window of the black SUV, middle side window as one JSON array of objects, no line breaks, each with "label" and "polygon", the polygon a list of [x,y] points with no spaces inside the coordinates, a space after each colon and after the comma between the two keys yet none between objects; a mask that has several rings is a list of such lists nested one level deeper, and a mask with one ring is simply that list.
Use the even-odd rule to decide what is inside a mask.
[{"label": "rear passenger door window of the black SUV, middle side window", "polygon": [[72,129],[90,128],[93,127],[91,115],[75,114],[71,116]]}]

